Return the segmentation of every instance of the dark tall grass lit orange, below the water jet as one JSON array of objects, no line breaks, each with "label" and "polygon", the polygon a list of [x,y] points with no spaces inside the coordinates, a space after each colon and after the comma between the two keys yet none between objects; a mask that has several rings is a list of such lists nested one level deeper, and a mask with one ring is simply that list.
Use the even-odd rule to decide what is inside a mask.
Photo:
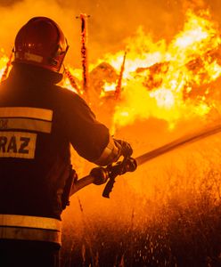
[{"label": "dark tall grass lit orange, below the water jet", "polygon": [[111,213],[102,207],[88,212],[75,197],[78,214],[70,211],[73,221],[64,226],[62,266],[221,266],[218,157],[216,162],[202,157],[183,171],[164,170],[151,197],[116,192]]}]

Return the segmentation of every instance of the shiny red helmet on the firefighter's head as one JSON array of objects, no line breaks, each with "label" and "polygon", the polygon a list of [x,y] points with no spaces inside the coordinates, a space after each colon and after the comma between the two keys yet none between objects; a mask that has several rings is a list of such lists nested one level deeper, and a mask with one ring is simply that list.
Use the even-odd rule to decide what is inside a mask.
[{"label": "shiny red helmet on the firefighter's head", "polygon": [[15,38],[14,62],[59,72],[68,49],[61,28],[53,20],[35,17],[20,28]]}]

